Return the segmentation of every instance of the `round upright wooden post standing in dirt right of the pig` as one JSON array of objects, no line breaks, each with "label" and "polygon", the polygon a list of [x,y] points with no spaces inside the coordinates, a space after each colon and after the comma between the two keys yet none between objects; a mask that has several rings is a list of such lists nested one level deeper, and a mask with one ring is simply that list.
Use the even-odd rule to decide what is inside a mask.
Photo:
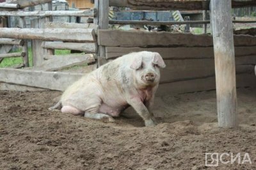
[{"label": "round upright wooden post standing in dirt right of the pig", "polygon": [[211,0],[219,127],[236,127],[236,69],[231,0]]}]

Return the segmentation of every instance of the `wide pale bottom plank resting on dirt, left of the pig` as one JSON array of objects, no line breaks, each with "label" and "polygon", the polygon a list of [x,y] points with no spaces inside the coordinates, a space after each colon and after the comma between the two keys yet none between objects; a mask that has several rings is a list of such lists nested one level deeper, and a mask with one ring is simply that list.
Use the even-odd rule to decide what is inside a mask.
[{"label": "wide pale bottom plank resting on dirt, left of the pig", "polygon": [[0,82],[50,90],[65,90],[84,74],[0,68]]}]

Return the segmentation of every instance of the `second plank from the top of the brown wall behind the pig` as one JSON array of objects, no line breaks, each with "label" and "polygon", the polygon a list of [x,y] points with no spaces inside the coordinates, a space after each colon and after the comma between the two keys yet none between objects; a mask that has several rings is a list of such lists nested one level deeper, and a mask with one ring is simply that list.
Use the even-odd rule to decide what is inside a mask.
[{"label": "second plank from the top of the brown wall behind the pig", "polygon": [[[169,47],[169,48],[140,48],[140,47],[106,47],[106,58],[113,59],[131,52],[158,52],[163,59],[208,59],[214,58],[213,47]],[[256,55],[256,46],[236,46],[236,57]]]}]

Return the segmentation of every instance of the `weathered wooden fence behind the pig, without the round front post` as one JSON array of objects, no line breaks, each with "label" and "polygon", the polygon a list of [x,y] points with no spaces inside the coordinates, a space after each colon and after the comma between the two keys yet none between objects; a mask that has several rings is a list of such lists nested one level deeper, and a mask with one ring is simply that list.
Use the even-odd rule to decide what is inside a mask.
[{"label": "weathered wooden fence behind the pig, without the round front post", "polygon": [[[95,10],[72,11],[72,13],[66,11],[61,14],[94,17],[94,24],[54,23],[48,22],[45,18],[38,18],[33,21],[34,28],[31,29],[0,29],[0,38],[2,38],[0,43],[1,41],[3,43],[6,42],[7,39],[5,38],[12,38],[18,40],[10,41],[18,41],[20,45],[23,45],[24,39],[33,39],[32,48],[34,56],[34,67],[32,68],[25,70],[0,69],[0,81],[42,89],[65,90],[70,83],[80,78],[82,74],[53,71],[84,62],[88,64],[93,63],[93,69],[95,69],[95,59],[101,65],[129,52],[147,50],[159,52],[167,65],[161,72],[159,95],[166,92],[183,93],[215,89],[212,36],[171,34],[169,32],[108,30],[108,15],[104,15],[108,14],[108,6],[131,6],[131,2],[133,0],[110,0],[99,3],[99,0],[97,0],[95,1]],[[164,2],[166,1],[159,1],[159,3],[166,4]],[[248,1],[248,3],[253,2]],[[191,2],[188,3],[192,4]],[[198,1],[194,5],[198,3],[201,4],[200,9],[204,9],[202,4],[205,2]],[[232,1],[232,3],[234,6],[245,6],[244,4],[237,3],[237,1]],[[185,4],[178,4],[180,6],[178,5],[177,8],[188,8]],[[172,5],[172,3],[169,2],[168,5]],[[132,3],[132,6],[136,6],[136,3]],[[161,6],[161,10],[166,10],[166,6]],[[141,8],[141,6],[136,7]],[[60,14],[56,14],[54,11],[40,11],[36,13],[22,13],[19,11],[3,11],[1,13],[0,11],[0,15],[49,17]],[[237,87],[255,86],[256,38],[253,36],[234,36],[234,41]],[[96,53],[96,57],[86,54],[56,57],[53,52],[54,49]],[[24,53],[13,53],[13,55],[24,55]],[[20,76],[19,81],[17,76]],[[42,79],[38,80],[38,76],[41,76]],[[38,83],[30,81],[29,78],[38,81]]]}]

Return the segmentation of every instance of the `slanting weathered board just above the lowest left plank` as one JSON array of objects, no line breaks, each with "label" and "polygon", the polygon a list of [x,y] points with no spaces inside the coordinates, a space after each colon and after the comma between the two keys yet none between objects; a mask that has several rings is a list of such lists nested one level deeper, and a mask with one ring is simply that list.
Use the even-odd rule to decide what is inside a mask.
[{"label": "slanting weathered board just above the lowest left plank", "polygon": [[83,64],[89,64],[95,62],[92,54],[66,56],[66,57],[51,57],[49,60],[45,60],[40,66],[31,67],[32,70],[40,71],[58,71],[63,68],[72,66],[81,66]]}]

